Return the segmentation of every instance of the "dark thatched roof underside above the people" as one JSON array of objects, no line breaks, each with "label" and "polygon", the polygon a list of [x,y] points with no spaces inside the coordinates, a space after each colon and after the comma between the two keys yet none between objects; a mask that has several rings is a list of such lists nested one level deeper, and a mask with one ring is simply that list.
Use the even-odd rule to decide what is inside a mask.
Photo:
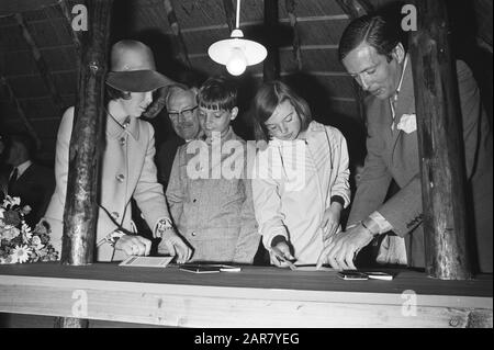
[{"label": "dark thatched roof underside above the people", "polygon": [[[64,5],[81,1],[4,0],[0,5],[0,127],[30,128],[41,142],[41,158],[54,157],[61,112],[72,105],[77,90],[77,56]],[[374,8],[393,0],[369,1]],[[492,54],[492,1],[475,0],[473,21],[476,41]],[[187,60],[180,60],[162,0],[115,0],[111,41],[138,38],[151,46],[158,70],[177,79],[189,79],[187,60],[197,77],[226,74],[207,57],[207,47],[229,36],[223,0],[172,0]],[[279,0],[277,46],[281,78],[292,82],[314,105],[322,122],[335,124],[344,133],[361,123],[356,87],[337,59],[339,37],[350,18],[336,0],[295,0],[300,60],[293,46],[284,0]],[[18,13],[18,14],[16,14]],[[19,15],[20,14],[20,15]],[[246,37],[266,41],[263,1],[242,2],[240,26]],[[25,31],[22,31],[24,25]],[[32,37],[26,41],[25,33]],[[34,50],[33,50],[34,45]],[[36,49],[46,72],[36,63]],[[492,72],[491,72],[492,75]],[[492,79],[492,78],[491,78]],[[262,81],[262,65],[249,67],[238,79],[246,99]],[[52,88],[50,88],[52,86]],[[162,113],[161,113],[162,114]],[[240,133],[242,134],[242,133]]]}]

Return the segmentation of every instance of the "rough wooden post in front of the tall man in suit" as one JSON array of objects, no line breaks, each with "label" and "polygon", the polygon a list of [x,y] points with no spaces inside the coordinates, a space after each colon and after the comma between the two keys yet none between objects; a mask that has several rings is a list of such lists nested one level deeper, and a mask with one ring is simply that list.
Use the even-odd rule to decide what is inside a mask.
[{"label": "rough wooden post in front of the tall man in suit", "polygon": [[[416,1],[412,33],[418,150],[422,169],[426,270],[442,280],[471,278],[454,60],[444,0]],[[471,233],[473,234],[473,233]]]}]

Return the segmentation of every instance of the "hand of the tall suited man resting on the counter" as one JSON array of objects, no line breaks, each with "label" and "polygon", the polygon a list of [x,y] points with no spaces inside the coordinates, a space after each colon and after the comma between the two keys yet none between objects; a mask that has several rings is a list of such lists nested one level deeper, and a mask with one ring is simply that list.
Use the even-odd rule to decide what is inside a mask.
[{"label": "hand of the tall suited man resting on the counter", "polygon": [[373,238],[374,236],[362,225],[357,225],[347,232],[333,236],[321,252],[316,268],[329,263],[336,270],[356,270],[355,257]]}]

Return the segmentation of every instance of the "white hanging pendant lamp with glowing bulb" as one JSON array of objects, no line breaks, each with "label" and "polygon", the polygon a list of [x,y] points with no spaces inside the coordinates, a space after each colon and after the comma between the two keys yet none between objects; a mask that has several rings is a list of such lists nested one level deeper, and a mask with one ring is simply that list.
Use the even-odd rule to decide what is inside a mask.
[{"label": "white hanging pendant lamp with glowing bulb", "polygon": [[232,76],[242,75],[247,66],[260,64],[268,55],[265,46],[244,38],[244,33],[239,29],[240,0],[237,0],[236,14],[236,25],[231,38],[218,41],[207,49],[211,59],[226,66]]}]

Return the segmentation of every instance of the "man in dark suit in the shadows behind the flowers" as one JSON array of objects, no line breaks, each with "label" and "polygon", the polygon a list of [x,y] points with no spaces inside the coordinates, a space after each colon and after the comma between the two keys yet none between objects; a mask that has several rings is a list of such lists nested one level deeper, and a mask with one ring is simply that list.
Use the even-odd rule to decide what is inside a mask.
[{"label": "man in dark suit in the shadows behind the flowers", "polygon": [[10,196],[19,196],[21,205],[32,211],[25,216],[34,228],[45,214],[55,189],[55,176],[48,168],[33,162],[34,140],[26,134],[11,135],[8,142],[5,162],[11,168],[3,174],[3,188]]}]

